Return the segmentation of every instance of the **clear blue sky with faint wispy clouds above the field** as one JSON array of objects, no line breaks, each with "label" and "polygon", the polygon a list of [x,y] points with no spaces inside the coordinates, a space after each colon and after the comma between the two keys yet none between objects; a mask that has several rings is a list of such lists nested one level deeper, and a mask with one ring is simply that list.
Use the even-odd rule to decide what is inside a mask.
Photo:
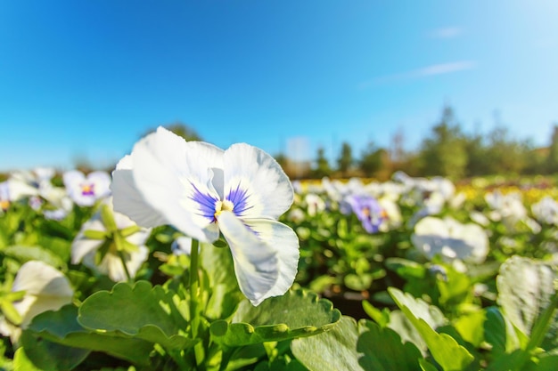
[{"label": "clear blue sky with faint wispy clouds above the field", "polygon": [[[182,121],[221,148],[337,157],[445,103],[546,145],[558,122],[558,2],[0,2],[0,171],[107,166]],[[305,148],[304,148],[305,147]]]}]

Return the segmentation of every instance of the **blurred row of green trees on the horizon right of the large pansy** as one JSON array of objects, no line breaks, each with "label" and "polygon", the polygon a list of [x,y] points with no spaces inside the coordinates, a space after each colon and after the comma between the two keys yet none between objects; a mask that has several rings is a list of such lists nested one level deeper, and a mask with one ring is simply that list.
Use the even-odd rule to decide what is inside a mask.
[{"label": "blurred row of green trees on the horizon right of the large pansy", "polygon": [[323,147],[317,149],[314,161],[308,163],[294,163],[283,154],[275,158],[294,179],[364,176],[386,180],[398,170],[411,176],[440,175],[453,180],[494,174],[558,173],[558,125],[554,125],[549,146],[537,148],[530,139],[513,138],[503,125],[497,125],[486,135],[464,133],[454,109],[446,106],[418,149],[402,149],[400,133],[394,143],[395,148],[386,149],[369,142],[356,154],[345,141],[333,164]]}]

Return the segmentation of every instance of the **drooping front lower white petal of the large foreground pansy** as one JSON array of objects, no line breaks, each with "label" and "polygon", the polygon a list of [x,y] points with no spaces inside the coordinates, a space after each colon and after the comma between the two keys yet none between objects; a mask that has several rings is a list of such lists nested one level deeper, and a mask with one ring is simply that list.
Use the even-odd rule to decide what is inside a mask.
[{"label": "drooping front lower white petal of the large foreground pansy", "polygon": [[273,296],[279,279],[279,259],[275,248],[259,239],[231,212],[218,216],[219,228],[231,247],[238,286],[258,305]]}]

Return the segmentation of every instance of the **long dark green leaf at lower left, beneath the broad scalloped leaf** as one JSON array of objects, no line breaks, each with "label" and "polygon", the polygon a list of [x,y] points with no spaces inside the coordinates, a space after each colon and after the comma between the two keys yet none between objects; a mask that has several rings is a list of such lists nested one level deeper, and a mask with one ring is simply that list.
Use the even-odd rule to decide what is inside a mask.
[{"label": "long dark green leaf at lower left, beneath the broad scalloped leaf", "polygon": [[89,351],[103,351],[139,365],[149,364],[149,355],[153,349],[153,344],[144,340],[86,330],[79,325],[78,308],[73,305],[63,306],[59,311],[45,311],[39,314],[26,331],[54,343]]}]

